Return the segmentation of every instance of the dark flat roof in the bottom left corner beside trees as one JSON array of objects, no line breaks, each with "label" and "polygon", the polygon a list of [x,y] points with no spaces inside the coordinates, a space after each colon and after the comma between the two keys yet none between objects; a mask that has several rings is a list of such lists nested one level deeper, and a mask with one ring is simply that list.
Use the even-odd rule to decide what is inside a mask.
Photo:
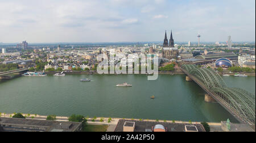
[{"label": "dark flat roof in the bottom left corner beside trees", "polygon": [[75,132],[82,123],[35,119],[0,118],[0,130],[10,132]]}]

